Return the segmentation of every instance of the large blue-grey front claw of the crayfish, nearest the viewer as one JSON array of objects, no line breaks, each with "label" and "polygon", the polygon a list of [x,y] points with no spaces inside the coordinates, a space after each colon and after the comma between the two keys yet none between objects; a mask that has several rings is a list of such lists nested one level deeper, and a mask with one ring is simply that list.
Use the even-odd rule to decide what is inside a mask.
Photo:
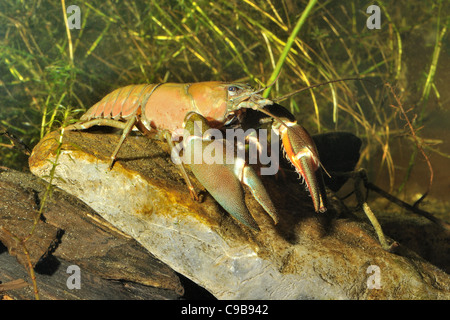
[{"label": "large blue-grey front claw of the crayfish, nearest the viewer", "polygon": [[[227,155],[227,150],[233,147],[231,142],[217,137],[211,139],[205,134],[210,127],[206,119],[197,113],[189,113],[186,116],[184,127],[190,134],[183,138],[184,155],[187,155],[193,174],[211,196],[236,220],[259,231],[258,224],[245,204],[245,193],[242,187],[244,183],[277,223],[278,215],[275,207],[257,174],[247,166],[245,160],[235,157],[234,154],[232,157]],[[208,157],[212,155],[207,152],[203,154],[204,150],[214,150],[214,154],[220,154],[220,156],[211,161]],[[198,155],[198,153],[202,153],[204,157],[201,163],[195,161],[195,154]]]}]

